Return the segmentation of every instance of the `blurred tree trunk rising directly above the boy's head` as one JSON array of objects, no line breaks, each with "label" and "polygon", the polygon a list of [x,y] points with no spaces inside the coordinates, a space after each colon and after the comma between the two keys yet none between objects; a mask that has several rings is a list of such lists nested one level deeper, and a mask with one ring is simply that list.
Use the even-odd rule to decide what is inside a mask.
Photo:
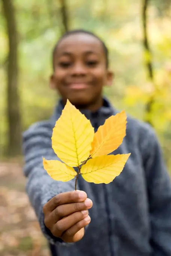
[{"label": "blurred tree trunk rising directly above the boy's head", "polygon": [[62,34],[68,32],[69,30],[69,20],[68,20],[68,8],[66,0],[60,0],[60,14],[62,20]]}]

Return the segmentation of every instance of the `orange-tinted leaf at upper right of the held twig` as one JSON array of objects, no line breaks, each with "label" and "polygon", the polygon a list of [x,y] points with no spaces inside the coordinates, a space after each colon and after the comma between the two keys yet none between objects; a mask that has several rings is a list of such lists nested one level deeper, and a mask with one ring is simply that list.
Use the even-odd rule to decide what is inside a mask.
[{"label": "orange-tinted leaf at upper right of the held twig", "polygon": [[126,113],[122,111],[109,117],[99,126],[92,143],[91,157],[107,155],[120,146],[126,135]]}]

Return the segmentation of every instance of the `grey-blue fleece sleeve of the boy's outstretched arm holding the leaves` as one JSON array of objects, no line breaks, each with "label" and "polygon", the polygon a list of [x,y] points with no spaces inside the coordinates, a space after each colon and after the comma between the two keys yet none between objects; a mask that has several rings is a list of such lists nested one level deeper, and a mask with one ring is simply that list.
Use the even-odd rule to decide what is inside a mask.
[{"label": "grey-blue fleece sleeve of the boy's outstretched arm holding the leaves", "polygon": [[74,190],[74,180],[55,181],[45,171],[42,157],[48,160],[60,160],[51,148],[52,127],[47,122],[32,125],[23,134],[23,152],[25,158],[24,175],[27,177],[26,191],[34,208],[40,228],[51,244],[66,244],[53,236],[45,227],[43,206],[52,197],[62,192]]}]

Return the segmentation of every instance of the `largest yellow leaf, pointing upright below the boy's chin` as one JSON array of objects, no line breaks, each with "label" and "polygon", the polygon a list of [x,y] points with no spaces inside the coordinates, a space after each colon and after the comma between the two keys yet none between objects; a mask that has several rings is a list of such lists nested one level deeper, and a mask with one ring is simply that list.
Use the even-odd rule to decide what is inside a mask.
[{"label": "largest yellow leaf, pointing upright below the boy's chin", "polygon": [[94,129],[90,121],[69,100],[52,133],[55,154],[69,166],[79,166],[90,155]]}]

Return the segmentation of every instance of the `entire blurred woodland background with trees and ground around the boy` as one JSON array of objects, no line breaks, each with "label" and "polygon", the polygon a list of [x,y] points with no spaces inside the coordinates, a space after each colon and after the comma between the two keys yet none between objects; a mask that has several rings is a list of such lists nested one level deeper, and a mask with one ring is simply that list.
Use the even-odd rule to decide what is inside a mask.
[{"label": "entire blurred woodland background with trees and ground around the boy", "polygon": [[110,49],[105,95],[154,127],[171,171],[171,0],[0,0],[0,255],[48,255],[16,159],[21,131],[48,119],[58,98],[48,85],[52,48],[80,28]]}]

